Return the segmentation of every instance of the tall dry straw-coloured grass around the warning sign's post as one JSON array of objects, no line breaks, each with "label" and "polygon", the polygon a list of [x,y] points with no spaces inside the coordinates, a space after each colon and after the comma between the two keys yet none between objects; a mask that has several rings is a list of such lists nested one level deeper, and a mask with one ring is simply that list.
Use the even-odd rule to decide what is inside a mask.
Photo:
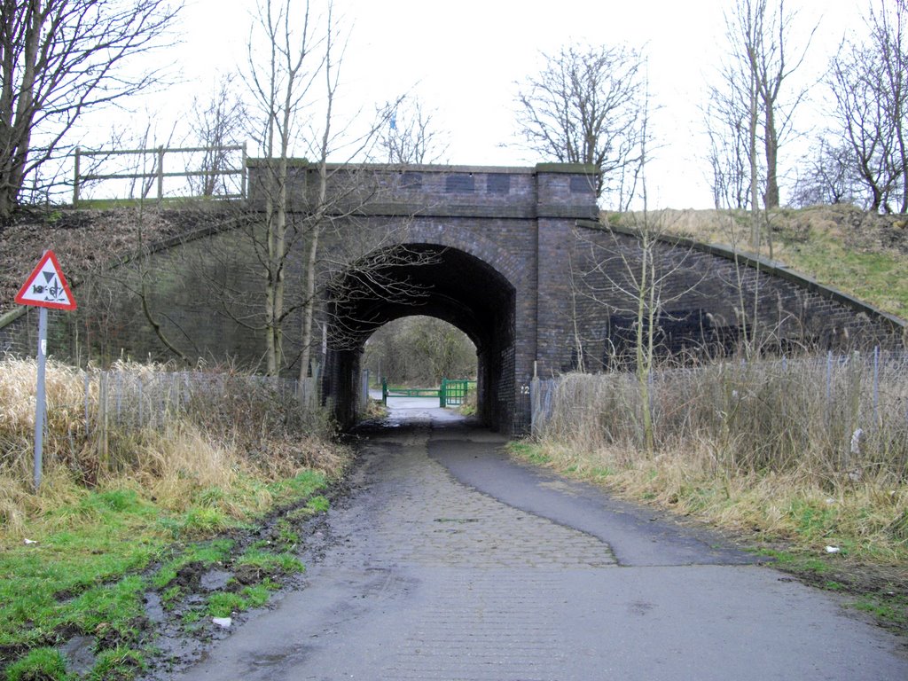
[{"label": "tall dry straw-coloured grass around the warning sign's post", "polygon": [[167,369],[123,363],[86,374],[48,361],[44,480],[35,493],[35,362],[0,361],[0,530],[15,536],[26,518],[84,489],[132,487],[180,509],[206,489],[245,486],[247,501],[260,495],[264,507],[264,485],[251,481],[341,469],[329,420],[301,410],[291,392],[257,377],[215,373],[194,377],[194,389],[183,390],[185,374]]}]

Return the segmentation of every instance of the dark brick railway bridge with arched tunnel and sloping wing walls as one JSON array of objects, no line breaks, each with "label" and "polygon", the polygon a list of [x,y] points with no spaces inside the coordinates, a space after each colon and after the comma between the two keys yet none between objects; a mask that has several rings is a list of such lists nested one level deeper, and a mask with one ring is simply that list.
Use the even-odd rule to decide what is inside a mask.
[{"label": "dark brick railway bridge with arched tunnel and sloping wing walls", "polygon": [[[266,172],[264,162],[250,161],[253,212],[265,200]],[[479,415],[504,431],[527,429],[534,375],[632,364],[635,277],[646,249],[638,232],[598,222],[595,173],[591,166],[548,163],[331,167],[329,192],[339,198],[331,202],[332,230],[322,249],[337,257],[325,260],[373,263],[368,274],[342,267],[321,273],[334,283],[322,288],[313,352],[324,397],[341,422],[355,419],[360,406],[360,357],[370,334],[411,314],[437,317],[467,333],[479,360]],[[292,224],[311,211],[317,169],[291,163],[287,186]],[[238,299],[247,291],[250,301],[261,300],[254,298],[261,297],[261,271],[254,273],[249,248],[239,241],[217,245],[229,243],[232,232],[238,230],[220,221],[155,256],[156,295],[167,311],[160,321],[188,355],[254,364],[262,357],[261,333],[235,323],[241,316],[236,309],[219,314],[218,305],[188,293],[205,290],[205,281],[226,271],[232,281],[224,280],[220,290],[237,291]],[[302,267],[303,249],[294,248],[288,281],[299,281],[294,277]],[[376,258],[401,248],[409,260]],[[230,252],[232,262],[206,268],[202,263],[215,252]],[[777,264],[683,240],[657,240],[652,253],[660,281],[660,351],[702,358],[735,345],[744,333],[780,351],[903,343],[902,321]],[[122,307],[136,316],[135,301]],[[121,341],[142,357],[156,341],[147,324],[143,331],[137,324],[120,324]],[[140,336],[144,344],[135,340]],[[285,338],[290,356],[299,348],[292,347],[290,333]]]}]

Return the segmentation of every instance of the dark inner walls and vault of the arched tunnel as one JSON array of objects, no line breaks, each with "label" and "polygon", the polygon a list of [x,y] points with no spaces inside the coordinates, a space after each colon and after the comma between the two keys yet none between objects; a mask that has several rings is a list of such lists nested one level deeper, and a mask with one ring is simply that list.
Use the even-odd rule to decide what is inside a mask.
[{"label": "dark inner walls and vault of the arched tunnel", "polygon": [[[516,291],[489,263],[467,252],[407,243],[408,257],[388,257],[369,275],[345,271],[329,287],[324,392],[343,425],[360,410],[362,353],[372,333],[402,317],[424,315],[463,331],[476,348],[477,414],[493,429],[507,428],[515,374]],[[386,253],[377,253],[383,257]]]}]

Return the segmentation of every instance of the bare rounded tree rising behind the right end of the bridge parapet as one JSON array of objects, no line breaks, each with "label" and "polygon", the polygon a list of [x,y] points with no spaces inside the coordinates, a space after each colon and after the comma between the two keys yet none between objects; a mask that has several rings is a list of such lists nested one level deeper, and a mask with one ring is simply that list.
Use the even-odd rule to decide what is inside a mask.
[{"label": "bare rounded tree rising behind the right end of the bridge parapet", "polygon": [[625,45],[563,47],[518,94],[519,133],[528,149],[561,163],[599,169],[597,196],[626,206],[642,159],[644,59]]}]

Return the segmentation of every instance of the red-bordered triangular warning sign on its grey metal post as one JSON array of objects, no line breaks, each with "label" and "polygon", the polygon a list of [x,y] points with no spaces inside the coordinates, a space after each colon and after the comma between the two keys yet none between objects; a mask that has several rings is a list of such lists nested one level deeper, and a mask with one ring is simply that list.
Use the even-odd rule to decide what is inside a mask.
[{"label": "red-bordered triangular warning sign on its grey metal post", "polygon": [[41,486],[44,459],[44,417],[47,398],[44,392],[44,370],[47,364],[47,310],[75,310],[75,299],[69,290],[60,263],[53,251],[45,251],[37,267],[15,296],[20,305],[34,305],[38,310],[38,385],[35,392],[35,489]]}]

